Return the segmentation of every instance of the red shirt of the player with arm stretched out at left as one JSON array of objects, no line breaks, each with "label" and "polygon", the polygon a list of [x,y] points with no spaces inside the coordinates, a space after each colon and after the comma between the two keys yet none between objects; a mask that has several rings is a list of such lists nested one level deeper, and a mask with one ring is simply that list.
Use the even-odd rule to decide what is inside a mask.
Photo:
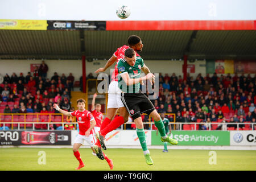
[{"label": "red shirt of the player with arm stretched out at left", "polygon": [[[90,128],[90,121],[94,119],[92,113],[85,109],[82,112],[75,110],[71,115],[75,116],[79,123],[79,134],[85,135],[85,132]],[[93,134],[92,130],[90,130],[90,134]]]}]

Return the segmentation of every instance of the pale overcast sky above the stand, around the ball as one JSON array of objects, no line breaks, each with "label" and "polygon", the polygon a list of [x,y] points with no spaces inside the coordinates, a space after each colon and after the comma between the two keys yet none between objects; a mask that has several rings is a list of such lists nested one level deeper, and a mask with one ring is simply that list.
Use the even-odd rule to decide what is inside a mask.
[{"label": "pale overcast sky above the stand, around the ball", "polygon": [[119,5],[126,20],[256,20],[255,0],[0,0],[0,19],[121,20]]}]

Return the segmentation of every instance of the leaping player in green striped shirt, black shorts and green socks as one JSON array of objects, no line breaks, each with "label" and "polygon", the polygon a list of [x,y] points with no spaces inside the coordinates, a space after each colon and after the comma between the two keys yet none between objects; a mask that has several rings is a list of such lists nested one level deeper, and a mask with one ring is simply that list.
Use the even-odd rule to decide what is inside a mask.
[{"label": "leaping player in green striped shirt, black shorts and green socks", "polygon": [[[172,139],[166,135],[164,124],[160,115],[155,110],[152,102],[147,96],[141,92],[141,82],[150,80],[155,76],[152,73],[147,73],[146,76],[141,77],[141,70],[146,72],[144,69],[147,68],[141,57],[138,57],[132,48],[125,50],[125,58],[119,60],[118,69],[118,87],[122,90],[121,100],[129,112],[131,118],[133,118],[136,124],[136,131],[141,143],[144,157],[148,165],[152,165],[153,161],[150,156],[150,152],[147,149],[146,137],[142,122],[142,113],[150,115],[154,119],[154,124],[158,128],[160,133],[160,140],[162,142],[169,142],[171,144],[177,144],[175,139]],[[148,69],[148,68],[147,68]]]}]

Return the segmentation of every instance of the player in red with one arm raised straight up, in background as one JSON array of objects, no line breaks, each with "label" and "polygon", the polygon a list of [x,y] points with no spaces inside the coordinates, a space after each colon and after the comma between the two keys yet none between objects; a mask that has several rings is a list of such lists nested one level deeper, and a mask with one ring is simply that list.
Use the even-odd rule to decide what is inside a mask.
[{"label": "player in red with one arm raised straight up, in background", "polygon": [[[103,120],[103,114],[101,113],[101,105],[100,104],[95,105],[96,97],[97,97],[97,93],[94,93],[93,94],[93,100],[92,100],[92,109],[91,109],[92,115],[93,115],[93,117],[96,121],[96,126],[93,127],[94,143],[96,143],[95,141],[97,141],[96,132],[100,131],[101,123],[102,123],[102,120]],[[101,150],[97,145],[94,145],[93,148],[94,148],[94,151]],[[104,154],[104,152],[102,152],[102,153]],[[100,154],[96,154],[96,155],[98,156],[98,158],[101,159]],[[104,154],[104,158],[107,160],[110,169],[113,169],[114,165],[113,165],[112,159],[108,159],[106,154]]]}]

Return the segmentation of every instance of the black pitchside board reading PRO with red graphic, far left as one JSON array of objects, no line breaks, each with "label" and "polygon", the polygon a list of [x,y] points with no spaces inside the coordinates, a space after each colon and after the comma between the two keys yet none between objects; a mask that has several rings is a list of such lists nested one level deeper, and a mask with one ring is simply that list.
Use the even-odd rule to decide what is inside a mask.
[{"label": "black pitchside board reading PRO with red graphic, far left", "polygon": [[70,145],[71,131],[0,131],[0,145]]}]

